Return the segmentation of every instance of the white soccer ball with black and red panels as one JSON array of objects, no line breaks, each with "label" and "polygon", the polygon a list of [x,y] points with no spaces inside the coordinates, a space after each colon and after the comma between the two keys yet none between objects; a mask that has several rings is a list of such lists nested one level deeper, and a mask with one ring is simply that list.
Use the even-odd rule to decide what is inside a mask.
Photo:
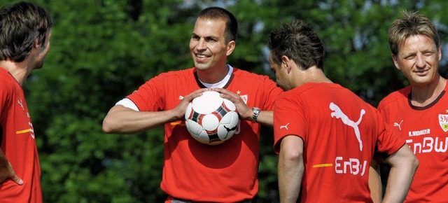
[{"label": "white soccer ball with black and red panels", "polygon": [[187,130],[202,144],[222,144],[237,130],[239,123],[237,107],[219,94],[216,91],[203,92],[187,106],[185,113]]}]

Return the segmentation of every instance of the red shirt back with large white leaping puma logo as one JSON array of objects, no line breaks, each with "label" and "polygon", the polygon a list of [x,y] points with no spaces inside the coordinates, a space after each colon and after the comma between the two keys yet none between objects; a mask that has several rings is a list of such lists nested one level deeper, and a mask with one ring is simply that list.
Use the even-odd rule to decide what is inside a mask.
[{"label": "red shirt back with large white leaping puma logo", "polygon": [[335,83],[305,83],[280,95],[276,153],[288,135],[304,141],[300,202],[372,202],[368,172],[375,146],[391,155],[405,144],[377,109]]}]

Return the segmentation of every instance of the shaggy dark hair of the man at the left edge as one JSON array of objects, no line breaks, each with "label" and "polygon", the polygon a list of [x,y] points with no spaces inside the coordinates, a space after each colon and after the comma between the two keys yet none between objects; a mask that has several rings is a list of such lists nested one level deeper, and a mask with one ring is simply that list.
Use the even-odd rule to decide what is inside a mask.
[{"label": "shaggy dark hair of the man at the left edge", "polygon": [[22,62],[38,39],[45,44],[53,23],[48,12],[34,3],[21,1],[0,8],[0,59]]}]

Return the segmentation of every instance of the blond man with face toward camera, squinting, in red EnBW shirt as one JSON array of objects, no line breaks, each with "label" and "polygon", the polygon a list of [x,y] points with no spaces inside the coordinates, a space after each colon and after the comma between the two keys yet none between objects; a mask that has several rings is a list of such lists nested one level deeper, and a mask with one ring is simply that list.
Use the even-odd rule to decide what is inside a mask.
[{"label": "blond man with face toward camera, squinting, in red EnBW shirt", "polygon": [[388,38],[393,63],[410,85],[388,94],[378,109],[420,162],[405,202],[447,202],[448,86],[438,72],[437,29],[424,15],[403,12]]}]

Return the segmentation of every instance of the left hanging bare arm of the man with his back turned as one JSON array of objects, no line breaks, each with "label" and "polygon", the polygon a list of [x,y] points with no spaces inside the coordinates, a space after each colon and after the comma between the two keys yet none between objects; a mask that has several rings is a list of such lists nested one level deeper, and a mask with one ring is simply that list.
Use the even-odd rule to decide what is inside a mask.
[{"label": "left hanging bare arm of the man with his back turned", "polygon": [[296,202],[304,172],[303,140],[300,137],[290,135],[281,140],[278,171],[280,202]]}]

